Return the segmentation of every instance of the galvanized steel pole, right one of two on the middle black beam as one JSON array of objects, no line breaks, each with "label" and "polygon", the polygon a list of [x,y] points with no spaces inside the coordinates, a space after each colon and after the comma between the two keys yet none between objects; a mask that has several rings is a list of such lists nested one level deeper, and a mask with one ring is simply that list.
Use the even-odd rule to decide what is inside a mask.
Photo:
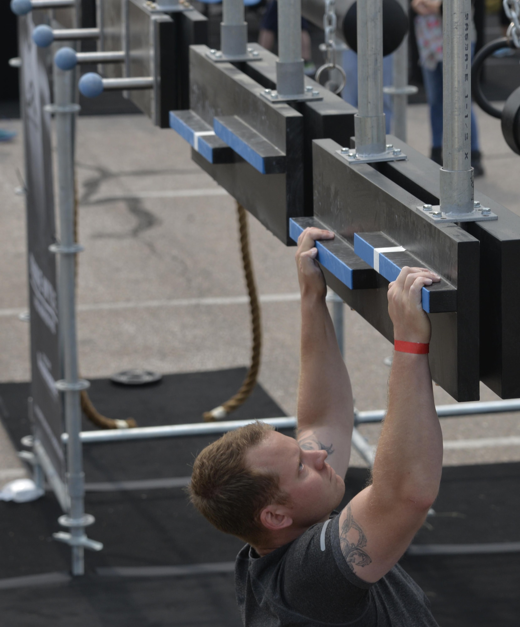
[{"label": "galvanized steel pole, right one of two on the middle black beam", "polygon": [[278,1],[276,88],[280,96],[304,93],[302,6],[300,0]]}]

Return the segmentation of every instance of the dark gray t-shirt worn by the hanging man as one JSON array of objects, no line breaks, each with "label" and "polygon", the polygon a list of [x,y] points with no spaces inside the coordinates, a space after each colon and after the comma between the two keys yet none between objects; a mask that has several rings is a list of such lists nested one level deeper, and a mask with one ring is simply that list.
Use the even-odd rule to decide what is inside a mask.
[{"label": "dark gray t-shirt worn by the hanging man", "polygon": [[235,587],[246,627],[438,627],[427,596],[400,566],[374,584],[349,569],[337,512],[266,556],[245,545]]}]

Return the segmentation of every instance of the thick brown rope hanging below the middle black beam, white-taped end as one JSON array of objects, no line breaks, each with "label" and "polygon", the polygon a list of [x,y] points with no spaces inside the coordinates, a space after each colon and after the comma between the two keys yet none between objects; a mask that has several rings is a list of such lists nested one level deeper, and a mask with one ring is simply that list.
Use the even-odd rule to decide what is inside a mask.
[{"label": "thick brown rope hanging below the middle black beam, white-taped end", "polygon": [[249,305],[251,311],[251,326],[253,332],[253,347],[251,350],[251,366],[235,396],[228,401],[222,403],[211,411],[203,414],[204,421],[207,423],[222,420],[232,411],[239,408],[248,396],[252,393],[253,387],[257,382],[258,369],[260,369],[260,354],[262,349],[262,327],[260,324],[260,303],[258,302],[257,286],[255,285],[255,275],[253,274],[253,264],[249,249],[249,234],[247,229],[247,213],[240,203],[236,203],[238,211],[238,228],[240,231],[240,248],[242,252],[242,263],[244,268],[245,280],[247,283],[247,291],[249,293]]}]

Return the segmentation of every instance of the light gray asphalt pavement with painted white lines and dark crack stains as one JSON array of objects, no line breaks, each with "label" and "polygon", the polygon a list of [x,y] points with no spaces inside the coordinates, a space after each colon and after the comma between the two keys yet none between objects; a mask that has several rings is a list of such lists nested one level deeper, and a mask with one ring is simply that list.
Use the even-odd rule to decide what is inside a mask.
[{"label": "light gray asphalt pavement with painted white lines and dark crack stains", "polygon": [[[480,110],[477,117],[486,175],[475,189],[520,215],[520,157],[504,142],[499,120]],[[2,127],[19,135],[0,144],[0,382],[28,381],[29,325],[19,319],[27,309],[25,200],[15,192],[24,171],[21,123],[7,120]],[[408,143],[428,154],[429,142],[427,106],[410,106]],[[174,373],[247,365],[250,318],[235,201],[191,161],[188,144],[142,115],[80,117],[77,180],[85,246],[78,273],[82,376],[109,377],[135,367]],[[249,223],[262,303],[259,381],[294,415],[300,325],[295,249],[255,218]],[[356,407],[382,409],[391,344],[348,307],[344,327]],[[496,398],[481,386],[482,400]],[[435,399],[454,402],[437,386]],[[446,465],[520,460],[519,414],[443,419],[442,426],[450,443]],[[360,431],[376,443],[378,425]],[[364,465],[355,451],[351,463]],[[0,431],[0,487],[23,473]]]}]

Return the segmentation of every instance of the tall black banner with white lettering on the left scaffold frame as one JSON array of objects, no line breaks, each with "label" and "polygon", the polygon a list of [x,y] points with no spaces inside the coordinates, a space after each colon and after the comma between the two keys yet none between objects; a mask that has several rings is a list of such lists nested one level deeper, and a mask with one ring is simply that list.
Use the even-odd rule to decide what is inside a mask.
[{"label": "tall black banner with white lettering on the left scaffold frame", "polygon": [[18,20],[21,56],[21,111],[26,164],[29,310],[31,313],[31,396],[34,436],[40,440],[58,475],[65,478],[65,455],[60,435],[63,410],[55,381],[61,378],[58,332],[55,214],[51,152],[51,117],[46,60],[48,51],[34,45],[34,11]]}]

